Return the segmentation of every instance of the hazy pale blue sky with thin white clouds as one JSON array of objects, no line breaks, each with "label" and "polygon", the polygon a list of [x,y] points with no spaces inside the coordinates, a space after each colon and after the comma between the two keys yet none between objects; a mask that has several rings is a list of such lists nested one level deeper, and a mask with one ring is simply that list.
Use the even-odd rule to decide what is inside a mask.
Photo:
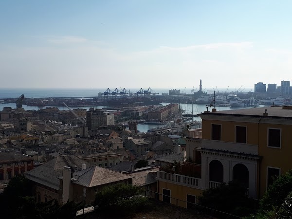
[{"label": "hazy pale blue sky with thin white clouds", "polygon": [[1,0],[0,87],[292,81],[291,0]]}]

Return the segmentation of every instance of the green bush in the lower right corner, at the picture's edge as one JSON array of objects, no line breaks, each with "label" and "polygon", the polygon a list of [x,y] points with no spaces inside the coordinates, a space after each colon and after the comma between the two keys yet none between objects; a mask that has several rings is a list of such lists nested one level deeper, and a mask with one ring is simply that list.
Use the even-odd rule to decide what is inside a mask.
[{"label": "green bush in the lower right corner, at the picture's edge", "polygon": [[292,190],[292,170],[275,178],[274,183],[269,186],[263,198],[259,202],[260,211],[271,211],[273,206],[278,210],[284,199]]}]

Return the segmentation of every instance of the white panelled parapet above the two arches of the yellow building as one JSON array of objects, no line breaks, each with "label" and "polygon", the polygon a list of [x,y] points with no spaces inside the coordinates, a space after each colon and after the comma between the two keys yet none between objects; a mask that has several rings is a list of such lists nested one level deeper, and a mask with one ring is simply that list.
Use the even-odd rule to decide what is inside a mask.
[{"label": "white panelled parapet above the two arches of the yellow building", "polygon": [[202,139],[201,148],[258,155],[257,145]]}]

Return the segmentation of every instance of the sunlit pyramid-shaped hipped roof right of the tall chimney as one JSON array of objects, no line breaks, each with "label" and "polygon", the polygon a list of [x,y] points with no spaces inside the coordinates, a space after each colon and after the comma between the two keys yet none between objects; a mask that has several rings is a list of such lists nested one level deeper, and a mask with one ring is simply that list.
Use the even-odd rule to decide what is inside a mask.
[{"label": "sunlit pyramid-shaped hipped roof right of the tall chimney", "polygon": [[132,178],[132,176],[112,171],[110,169],[102,168],[99,166],[92,166],[90,168],[73,173],[73,179],[76,180],[73,180],[72,183],[83,185],[86,187],[93,187],[129,180]]}]

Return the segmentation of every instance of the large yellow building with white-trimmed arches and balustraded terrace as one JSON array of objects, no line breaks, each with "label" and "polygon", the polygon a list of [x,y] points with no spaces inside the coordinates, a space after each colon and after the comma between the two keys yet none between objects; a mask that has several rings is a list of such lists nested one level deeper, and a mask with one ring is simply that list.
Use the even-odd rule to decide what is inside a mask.
[{"label": "large yellow building with white-trimmed arches and balustraded terrace", "polygon": [[[260,199],[273,176],[292,169],[290,134],[292,106],[225,110],[200,114],[202,128],[187,131],[187,157],[183,164],[197,177],[158,172],[158,192],[183,201],[196,200],[201,191],[238,180],[250,197]],[[201,177],[200,176],[201,172]],[[189,175],[189,176],[188,176]],[[194,198],[195,196],[195,198]],[[187,204],[181,201],[181,206]]]}]

